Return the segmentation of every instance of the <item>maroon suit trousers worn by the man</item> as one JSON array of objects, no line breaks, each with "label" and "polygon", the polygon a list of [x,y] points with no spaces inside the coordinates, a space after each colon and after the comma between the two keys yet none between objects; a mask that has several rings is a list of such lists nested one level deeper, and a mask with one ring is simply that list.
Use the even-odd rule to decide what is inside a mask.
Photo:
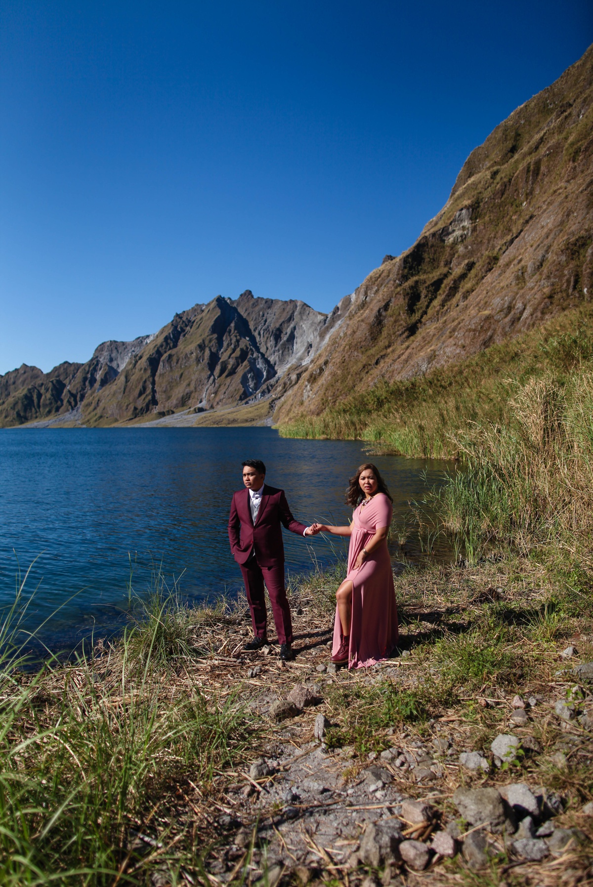
[{"label": "maroon suit trousers worn by the man", "polygon": [[252,556],[246,563],[240,564],[240,567],[245,582],[247,603],[251,610],[255,637],[266,637],[266,597],[263,589],[265,584],[269,593],[269,602],[272,605],[278,642],[292,644],[293,622],[291,608],[286,600],[284,562],[274,567],[260,567],[257,559]]}]

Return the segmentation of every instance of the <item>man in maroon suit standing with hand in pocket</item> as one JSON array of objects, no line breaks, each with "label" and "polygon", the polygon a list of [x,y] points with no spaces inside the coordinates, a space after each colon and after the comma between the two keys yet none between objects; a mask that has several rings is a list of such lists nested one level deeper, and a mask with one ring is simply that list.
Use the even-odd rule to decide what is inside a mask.
[{"label": "man in maroon suit standing with hand in pocket", "polygon": [[268,643],[265,583],[280,641],[280,658],[286,660],[293,656],[293,624],[286,600],[282,527],[300,536],[314,536],[315,533],[304,523],[294,520],[284,490],[269,487],[264,483],[265,476],[266,467],[261,459],[243,462],[246,490],[236,492],[230,503],[230,551],[243,574],[254,626],[254,640],[246,644],[245,649],[259,650]]}]

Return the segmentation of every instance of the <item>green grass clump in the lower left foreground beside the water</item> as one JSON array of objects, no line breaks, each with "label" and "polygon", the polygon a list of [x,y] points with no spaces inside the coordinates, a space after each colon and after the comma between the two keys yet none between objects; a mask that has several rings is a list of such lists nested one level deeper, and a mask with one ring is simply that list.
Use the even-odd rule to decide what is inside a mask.
[{"label": "green grass clump in the lower left foreground beside the water", "polygon": [[[204,852],[187,822],[163,825],[160,805],[168,797],[170,812],[176,783],[188,774],[207,791],[215,769],[246,749],[253,728],[237,693],[219,703],[199,688],[163,685],[165,663],[199,651],[187,611],[161,591],[152,593],[144,622],[103,655],[66,666],[50,661],[29,676],[18,655],[20,607],[4,618],[0,883],[144,883],[170,856],[168,844],[176,844],[177,869],[179,847],[192,863]],[[134,836],[158,816],[151,851]]]}]

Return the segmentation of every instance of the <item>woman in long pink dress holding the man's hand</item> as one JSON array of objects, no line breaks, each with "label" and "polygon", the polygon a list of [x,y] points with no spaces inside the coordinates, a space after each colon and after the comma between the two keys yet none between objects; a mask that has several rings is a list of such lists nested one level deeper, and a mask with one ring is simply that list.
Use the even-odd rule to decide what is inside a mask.
[{"label": "woman in long pink dress holding the man's hand", "polygon": [[364,668],[386,659],[397,646],[394,574],[387,551],[394,507],[371,463],[361,465],[350,478],[346,501],[355,506],[349,526],[316,523],[312,529],[350,537],[347,577],[336,593],[332,662]]}]

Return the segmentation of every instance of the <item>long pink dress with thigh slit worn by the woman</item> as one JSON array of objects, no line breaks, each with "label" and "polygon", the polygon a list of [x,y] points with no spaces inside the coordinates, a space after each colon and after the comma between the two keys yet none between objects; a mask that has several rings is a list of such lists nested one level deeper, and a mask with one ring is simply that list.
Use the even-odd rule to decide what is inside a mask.
[{"label": "long pink dress with thigh slit worn by the woman", "polygon": [[[397,604],[394,574],[382,542],[367,556],[360,569],[354,564],[361,549],[375,535],[376,527],[388,527],[394,508],[384,493],[361,503],[352,516],[347,579],[352,580],[352,625],[348,668],[365,668],[386,659],[397,646]],[[342,628],[338,608],[333,626],[332,655],[338,652]]]}]

